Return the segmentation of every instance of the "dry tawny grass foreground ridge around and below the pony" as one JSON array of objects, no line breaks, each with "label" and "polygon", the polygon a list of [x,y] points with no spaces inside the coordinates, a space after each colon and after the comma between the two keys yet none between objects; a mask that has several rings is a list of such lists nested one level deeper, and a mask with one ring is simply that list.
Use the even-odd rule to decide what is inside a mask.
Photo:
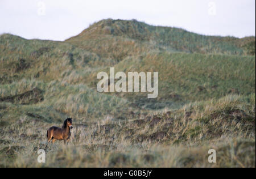
[{"label": "dry tawny grass foreground ridge around and below the pony", "polygon": [[[250,100],[250,103],[246,102]],[[150,113],[142,120],[74,121],[69,146],[46,144],[45,123],[22,116],[2,126],[2,167],[255,167],[255,95],[226,96],[177,110]],[[252,108],[251,108],[252,107]],[[189,112],[189,113],[188,113]],[[58,124],[61,125],[61,122]],[[217,163],[208,163],[208,150]]]}]

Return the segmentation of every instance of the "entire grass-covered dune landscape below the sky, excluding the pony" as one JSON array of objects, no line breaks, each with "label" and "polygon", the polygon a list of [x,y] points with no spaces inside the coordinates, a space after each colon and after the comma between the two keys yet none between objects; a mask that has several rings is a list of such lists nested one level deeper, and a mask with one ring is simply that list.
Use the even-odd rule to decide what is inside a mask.
[{"label": "entire grass-covered dune landscape below the sky, excluding the pony", "polygon": [[[158,71],[158,97],[98,93],[109,67]],[[71,143],[37,163],[67,116]],[[3,34],[0,127],[0,167],[255,167],[255,37],[112,19],[63,42]]]}]

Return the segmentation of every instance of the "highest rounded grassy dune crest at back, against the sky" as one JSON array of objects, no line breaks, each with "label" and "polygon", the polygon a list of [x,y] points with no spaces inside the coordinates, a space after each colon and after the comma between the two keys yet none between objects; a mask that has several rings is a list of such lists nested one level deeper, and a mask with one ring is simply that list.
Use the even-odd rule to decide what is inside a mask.
[{"label": "highest rounded grassy dune crest at back, against the sky", "polygon": [[[247,52],[249,46],[255,48],[255,37],[237,39],[204,36],[179,28],[152,26],[137,20],[102,20],[66,41],[117,60],[131,54],[147,53],[149,50],[203,54],[255,54],[254,50]],[[141,45],[144,49],[141,49]],[[118,46],[121,49],[116,49]],[[115,50],[118,50],[117,52],[121,50],[122,56],[115,57]]]}]

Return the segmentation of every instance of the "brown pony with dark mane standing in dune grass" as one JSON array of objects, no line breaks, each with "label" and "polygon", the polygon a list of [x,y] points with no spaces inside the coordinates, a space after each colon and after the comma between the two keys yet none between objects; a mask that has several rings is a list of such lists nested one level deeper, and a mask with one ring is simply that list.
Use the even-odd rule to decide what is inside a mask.
[{"label": "brown pony with dark mane standing in dune grass", "polygon": [[46,146],[51,140],[52,140],[52,143],[54,143],[55,140],[64,140],[64,144],[66,144],[66,142],[69,143],[70,136],[71,136],[70,129],[73,129],[72,118],[67,118],[67,120],[64,121],[63,126],[61,128],[55,127],[55,126],[50,127],[47,130],[47,134],[46,134],[48,139]]}]

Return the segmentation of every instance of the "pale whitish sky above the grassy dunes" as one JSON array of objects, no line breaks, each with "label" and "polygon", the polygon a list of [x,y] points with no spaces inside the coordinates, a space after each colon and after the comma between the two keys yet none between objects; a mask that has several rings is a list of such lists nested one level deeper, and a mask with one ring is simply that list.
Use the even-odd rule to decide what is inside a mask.
[{"label": "pale whitish sky above the grassy dunes", "polygon": [[108,18],[203,35],[255,36],[255,0],[0,0],[0,34],[26,39],[65,40]]}]

